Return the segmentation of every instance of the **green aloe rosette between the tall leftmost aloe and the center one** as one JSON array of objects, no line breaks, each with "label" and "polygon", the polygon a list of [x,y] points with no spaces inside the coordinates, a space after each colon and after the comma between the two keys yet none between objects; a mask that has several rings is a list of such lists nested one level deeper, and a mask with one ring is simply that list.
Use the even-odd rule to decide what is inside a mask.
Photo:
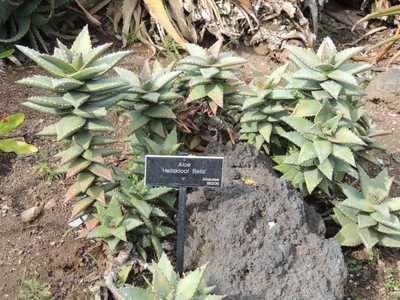
[{"label": "green aloe rosette between the tall leftmost aloe and the center one", "polygon": [[119,102],[120,106],[129,110],[126,115],[131,121],[130,133],[142,130],[149,136],[155,134],[165,138],[176,118],[173,110],[181,95],[173,85],[181,71],[173,71],[172,65],[164,68],[158,61],[154,62],[152,70],[146,61],[140,76],[122,68],[115,70],[122,80],[130,84]]}]

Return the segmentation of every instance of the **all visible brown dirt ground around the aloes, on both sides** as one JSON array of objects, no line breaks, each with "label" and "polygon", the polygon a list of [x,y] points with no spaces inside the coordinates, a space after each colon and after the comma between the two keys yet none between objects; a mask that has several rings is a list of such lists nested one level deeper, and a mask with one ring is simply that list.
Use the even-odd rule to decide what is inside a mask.
[{"label": "all visible brown dirt ground around the aloes, on both sides", "polygon": [[[350,21],[351,18],[348,14]],[[349,46],[360,34],[351,33],[349,25],[337,19],[334,13],[324,16],[322,32],[333,36],[341,46]],[[135,55],[123,65],[138,70],[150,52],[137,46],[133,50]],[[277,65],[276,58],[264,56],[262,49],[261,52],[260,49],[239,52],[249,60],[249,66],[265,73],[270,73]],[[379,64],[374,72],[382,71],[381,66]],[[25,123],[15,133],[40,150],[40,155],[24,157],[0,154],[0,299],[15,299],[27,278],[48,285],[57,299],[89,299],[89,288],[100,279],[104,268],[101,245],[78,239],[77,233],[70,231],[67,225],[70,206],[62,202],[69,182],[50,181],[37,171],[38,165],[47,159],[54,163],[51,157],[57,153],[50,139],[35,136],[35,132],[52,120],[20,105],[40,91],[14,83],[38,72],[34,67],[0,69],[0,114],[24,112]],[[365,79],[371,79],[374,72]],[[251,67],[245,70],[244,77],[251,77]],[[380,156],[380,161],[395,176],[394,196],[400,196],[399,115],[382,103],[366,100],[362,103],[379,129],[392,132],[379,138],[388,149],[388,153]],[[37,220],[29,224],[21,222],[20,214],[25,209],[46,204],[52,208],[44,209]],[[345,255],[350,271],[347,299],[400,299],[396,287],[388,284],[397,280],[397,288],[400,288],[400,250],[377,249],[373,256],[368,256],[359,249],[345,249]]]}]

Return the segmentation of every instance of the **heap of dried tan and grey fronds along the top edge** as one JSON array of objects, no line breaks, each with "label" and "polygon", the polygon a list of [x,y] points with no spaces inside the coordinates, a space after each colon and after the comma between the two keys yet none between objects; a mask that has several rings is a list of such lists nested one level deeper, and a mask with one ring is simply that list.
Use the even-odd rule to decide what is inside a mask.
[{"label": "heap of dried tan and grey fronds along the top edge", "polygon": [[124,46],[139,40],[162,48],[168,36],[182,48],[186,42],[224,38],[278,50],[289,39],[313,45],[315,34],[303,9],[315,23],[326,0],[97,0],[91,7],[87,2],[82,4],[93,16],[107,10]]}]

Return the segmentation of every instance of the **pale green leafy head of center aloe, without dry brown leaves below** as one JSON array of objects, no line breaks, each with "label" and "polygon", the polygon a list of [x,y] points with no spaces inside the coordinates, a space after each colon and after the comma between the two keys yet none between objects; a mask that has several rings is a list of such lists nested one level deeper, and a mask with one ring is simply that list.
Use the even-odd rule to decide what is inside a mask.
[{"label": "pale green leafy head of center aloe, without dry brown leaves below", "polygon": [[221,40],[209,49],[186,44],[190,56],[182,58],[177,65],[184,72],[181,85],[189,89],[186,102],[206,101],[213,115],[237,91],[235,70],[247,62],[230,52],[220,53],[221,47]]}]

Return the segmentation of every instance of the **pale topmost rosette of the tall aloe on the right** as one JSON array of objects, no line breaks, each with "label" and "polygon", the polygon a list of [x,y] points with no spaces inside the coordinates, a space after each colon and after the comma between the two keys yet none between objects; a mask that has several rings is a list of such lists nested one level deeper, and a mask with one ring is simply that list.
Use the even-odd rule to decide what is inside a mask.
[{"label": "pale topmost rosette of the tall aloe on the right", "polygon": [[287,49],[289,59],[298,68],[288,76],[287,88],[302,90],[317,100],[363,94],[355,75],[369,69],[370,65],[348,63],[354,55],[363,50],[362,47],[338,52],[332,40],[327,37],[317,53],[312,49],[296,46],[289,46]]}]

